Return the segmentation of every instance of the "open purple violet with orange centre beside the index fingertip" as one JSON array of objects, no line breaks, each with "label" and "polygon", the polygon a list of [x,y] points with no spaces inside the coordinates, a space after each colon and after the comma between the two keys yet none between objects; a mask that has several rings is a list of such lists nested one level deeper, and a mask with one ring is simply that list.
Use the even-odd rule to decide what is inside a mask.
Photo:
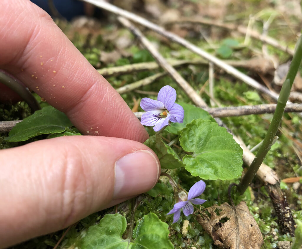
[{"label": "open purple violet with orange centre beside the index fingertip", "polygon": [[142,98],[140,107],[146,113],[143,113],[140,123],[146,126],[154,126],[155,131],[162,127],[174,123],[182,123],[184,120],[184,109],[181,105],[175,103],[176,91],[170,86],[164,86],[159,90],[157,100]]}]

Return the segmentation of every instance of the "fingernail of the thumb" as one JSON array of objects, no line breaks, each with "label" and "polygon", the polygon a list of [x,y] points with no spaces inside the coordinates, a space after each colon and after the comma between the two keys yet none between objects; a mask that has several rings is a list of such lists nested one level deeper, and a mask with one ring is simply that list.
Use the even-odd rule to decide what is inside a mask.
[{"label": "fingernail of the thumb", "polygon": [[151,152],[141,150],[125,155],[115,163],[113,199],[145,193],[156,184],[158,174],[159,164]]}]

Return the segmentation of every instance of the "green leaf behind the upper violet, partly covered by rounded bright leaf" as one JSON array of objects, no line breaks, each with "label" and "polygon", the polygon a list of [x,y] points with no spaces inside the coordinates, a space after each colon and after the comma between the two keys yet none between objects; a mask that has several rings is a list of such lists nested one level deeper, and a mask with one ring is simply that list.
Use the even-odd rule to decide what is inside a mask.
[{"label": "green leaf behind the upper violet, partly covered by rounded bright leaf", "polygon": [[199,107],[196,107],[194,105],[186,104],[186,103],[178,103],[184,108],[185,116],[184,116],[184,122],[183,123],[171,123],[171,126],[168,126],[165,130],[180,135],[182,132],[182,129],[186,127],[188,123],[191,123],[193,119],[204,119],[204,120],[211,120],[212,122],[216,122],[214,118],[211,117],[211,115],[205,111],[202,110]]}]

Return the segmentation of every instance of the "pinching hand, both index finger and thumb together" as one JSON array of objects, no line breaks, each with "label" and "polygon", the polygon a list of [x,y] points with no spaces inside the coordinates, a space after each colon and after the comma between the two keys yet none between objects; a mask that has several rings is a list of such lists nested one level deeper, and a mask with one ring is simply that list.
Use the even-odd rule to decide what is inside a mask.
[{"label": "pinching hand, both index finger and thumb together", "polygon": [[0,151],[0,247],[65,228],[156,184],[160,165],[142,144],[146,130],[46,12],[28,0],[1,0],[0,55],[0,69],[92,135]]}]

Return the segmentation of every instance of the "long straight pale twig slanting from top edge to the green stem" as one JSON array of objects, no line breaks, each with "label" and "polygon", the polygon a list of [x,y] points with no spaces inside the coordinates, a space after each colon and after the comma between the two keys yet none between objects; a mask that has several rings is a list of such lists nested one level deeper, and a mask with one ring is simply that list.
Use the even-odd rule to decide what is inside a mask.
[{"label": "long straight pale twig slanting from top edge to the green stem", "polygon": [[[192,52],[198,54],[199,56],[205,58],[206,60],[212,62],[214,65],[222,68],[224,71],[226,71],[228,74],[233,75],[235,78],[238,78],[245,82],[246,84],[250,85],[251,87],[257,89],[258,91],[261,91],[271,98],[273,98],[275,101],[278,100],[279,95],[276,94],[275,92],[269,91],[267,88],[265,88],[263,85],[259,84],[257,81],[254,79],[250,78],[249,76],[243,74],[242,72],[239,72],[237,69],[234,67],[226,64],[222,60],[216,58],[215,56],[205,52],[198,46],[195,46],[194,44],[188,42],[187,40],[179,37],[176,34],[173,34],[172,32],[169,32],[165,30],[163,27],[160,27],[145,18],[142,18],[136,14],[133,14],[129,11],[125,11],[121,8],[118,8],[108,2],[105,1],[99,1],[99,0],[82,0],[84,2],[91,3],[99,8],[105,9],[107,11],[110,11],[112,13],[115,13],[117,15],[123,16],[124,18],[128,18],[138,24],[141,24],[145,27],[148,27],[149,29],[161,34],[164,37],[167,37],[169,40],[172,40],[176,43],[181,44],[182,46],[186,47],[187,49],[191,50]],[[201,107],[201,106],[200,106]]]}]

